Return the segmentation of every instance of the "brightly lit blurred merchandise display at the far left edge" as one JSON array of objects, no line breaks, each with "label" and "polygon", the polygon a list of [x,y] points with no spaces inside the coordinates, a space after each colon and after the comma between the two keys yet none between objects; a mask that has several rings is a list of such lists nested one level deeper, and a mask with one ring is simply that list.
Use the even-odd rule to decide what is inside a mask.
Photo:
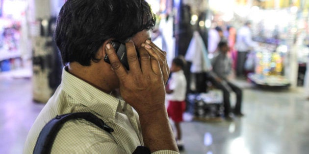
[{"label": "brightly lit blurred merchandise display at the far left edge", "polygon": [[23,66],[22,21],[26,6],[26,0],[0,0],[0,65],[6,68],[0,72]]}]

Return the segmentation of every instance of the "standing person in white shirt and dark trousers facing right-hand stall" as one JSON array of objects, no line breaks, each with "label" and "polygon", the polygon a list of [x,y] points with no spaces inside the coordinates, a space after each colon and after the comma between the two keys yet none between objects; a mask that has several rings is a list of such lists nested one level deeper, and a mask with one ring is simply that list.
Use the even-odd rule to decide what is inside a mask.
[{"label": "standing person in white shirt and dark trousers facing right-hand stall", "polygon": [[235,48],[237,50],[236,76],[244,76],[244,64],[247,54],[257,45],[252,40],[251,22],[246,22],[237,31]]}]

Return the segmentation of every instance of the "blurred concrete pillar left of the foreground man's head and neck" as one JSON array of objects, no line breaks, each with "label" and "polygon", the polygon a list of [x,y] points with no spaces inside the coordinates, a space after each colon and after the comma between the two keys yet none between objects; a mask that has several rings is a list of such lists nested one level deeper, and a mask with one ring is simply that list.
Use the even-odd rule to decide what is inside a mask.
[{"label": "blurred concrete pillar left of the foreground man's head and neck", "polygon": [[29,0],[34,8],[32,30],[33,100],[46,103],[60,84],[62,64],[53,41],[58,7],[64,0]]}]

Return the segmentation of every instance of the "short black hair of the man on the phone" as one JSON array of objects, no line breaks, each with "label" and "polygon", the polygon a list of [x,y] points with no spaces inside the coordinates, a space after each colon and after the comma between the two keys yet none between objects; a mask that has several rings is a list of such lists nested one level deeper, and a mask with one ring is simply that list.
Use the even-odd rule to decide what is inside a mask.
[{"label": "short black hair of the man on the phone", "polygon": [[90,66],[108,39],[125,41],[139,31],[152,29],[155,15],[145,0],[67,0],[55,29],[62,63]]}]

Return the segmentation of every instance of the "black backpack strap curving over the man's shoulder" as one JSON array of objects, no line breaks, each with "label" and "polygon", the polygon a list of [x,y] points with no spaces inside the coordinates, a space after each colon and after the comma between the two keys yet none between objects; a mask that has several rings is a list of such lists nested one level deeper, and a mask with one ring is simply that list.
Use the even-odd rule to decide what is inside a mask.
[{"label": "black backpack strap curving over the man's shoulder", "polygon": [[71,119],[85,119],[102,128],[106,132],[114,132],[114,130],[107,126],[103,120],[90,112],[77,112],[57,115],[55,118],[49,121],[40,132],[33,150],[33,154],[50,154],[53,141],[58,131],[61,129],[65,122]]}]

